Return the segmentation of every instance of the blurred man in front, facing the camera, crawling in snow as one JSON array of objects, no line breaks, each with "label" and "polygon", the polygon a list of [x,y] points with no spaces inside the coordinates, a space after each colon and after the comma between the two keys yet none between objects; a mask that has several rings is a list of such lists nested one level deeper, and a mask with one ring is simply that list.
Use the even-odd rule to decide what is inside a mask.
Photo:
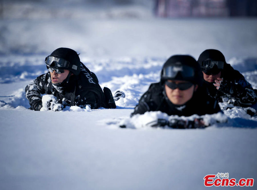
[{"label": "blurred man in front, facing the camera, crawling in snow", "polygon": [[[221,112],[218,102],[202,93],[201,78],[200,66],[193,57],[170,57],[162,67],[160,82],[150,85],[131,116],[149,111],[161,111],[178,116],[201,116]],[[170,123],[174,128],[197,128],[192,123],[190,125],[183,120]]]}]

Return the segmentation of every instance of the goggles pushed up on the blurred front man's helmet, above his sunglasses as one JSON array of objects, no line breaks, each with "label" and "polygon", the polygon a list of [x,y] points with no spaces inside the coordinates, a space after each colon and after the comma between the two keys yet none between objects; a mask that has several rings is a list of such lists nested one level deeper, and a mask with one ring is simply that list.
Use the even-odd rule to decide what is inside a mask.
[{"label": "goggles pushed up on the blurred front man's helmet, above his sunglasses", "polygon": [[178,72],[183,78],[194,77],[194,69],[186,65],[172,65],[163,68],[163,77],[175,78]]}]

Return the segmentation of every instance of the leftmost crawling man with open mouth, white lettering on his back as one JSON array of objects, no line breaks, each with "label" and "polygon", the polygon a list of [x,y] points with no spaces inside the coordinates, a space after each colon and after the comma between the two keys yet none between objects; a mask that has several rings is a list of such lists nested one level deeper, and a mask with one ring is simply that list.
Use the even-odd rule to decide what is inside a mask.
[{"label": "leftmost crawling man with open mouth, white lettering on his back", "polygon": [[25,88],[31,110],[39,111],[42,108],[41,94],[56,97],[57,101],[47,103],[48,109],[53,111],[65,106],[116,108],[111,90],[105,87],[103,92],[96,75],[80,62],[74,50],[58,48],[45,58],[45,63],[48,72],[38,76]]}]

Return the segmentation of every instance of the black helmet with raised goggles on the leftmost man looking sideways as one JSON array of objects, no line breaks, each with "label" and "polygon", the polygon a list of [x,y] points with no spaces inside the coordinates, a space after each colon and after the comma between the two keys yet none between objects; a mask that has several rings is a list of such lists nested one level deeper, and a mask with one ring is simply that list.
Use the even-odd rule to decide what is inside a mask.
[{"label": "black helmet with raised goggles on the leftmost man looking sideways", "polygon": [[79,55],[74,50],[66,47],[60,47],[53,51],[50,56],[45,58],[45,63],[47,64],[47,69],[55,67],[69,70],[75,75],[80,73]]}]

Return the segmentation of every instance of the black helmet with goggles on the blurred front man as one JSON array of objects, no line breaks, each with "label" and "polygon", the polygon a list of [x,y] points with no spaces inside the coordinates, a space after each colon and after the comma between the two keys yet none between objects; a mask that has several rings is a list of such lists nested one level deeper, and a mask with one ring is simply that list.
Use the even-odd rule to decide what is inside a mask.
[{"label": "black helmet with goggles on the blurred front man", "polygon": [[161,82],[184,80],[193,84],[200,84],[201,78],[199,64],[188,55],[171,56],[162,66]]}]

